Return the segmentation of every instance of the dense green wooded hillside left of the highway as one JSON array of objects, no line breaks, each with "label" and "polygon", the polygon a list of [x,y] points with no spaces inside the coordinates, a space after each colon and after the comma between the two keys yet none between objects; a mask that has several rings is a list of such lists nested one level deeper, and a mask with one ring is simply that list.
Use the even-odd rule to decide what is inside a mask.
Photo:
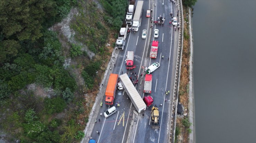
[{"label": "dense green wooded hillside left of the highway", "polygon": [[[64,35],[49,28],[72,8],[79,14],[70,28],[80,44],[66,40],[63,46]],[[113,45],[126,9],[127,0],[1,1],[0,133],[7,142],[80,141],[111,55],[106,43]],[[73,63],[68,67],[67,58]],[[33,86],[51,94],[36,94]]]}]

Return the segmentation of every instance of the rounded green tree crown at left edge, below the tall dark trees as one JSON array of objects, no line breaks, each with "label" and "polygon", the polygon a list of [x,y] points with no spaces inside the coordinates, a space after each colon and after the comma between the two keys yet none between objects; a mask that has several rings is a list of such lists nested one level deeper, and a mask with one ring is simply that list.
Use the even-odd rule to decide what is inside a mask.
[{"label": "rounded green tree crown at left edge, below the tall dark trees", "polygon": [[20,44],[15,40],[4,40],[0,42],[0,47],[0,64],[2,64],[4,62],[10,62],[11,58],[18,54]]}]

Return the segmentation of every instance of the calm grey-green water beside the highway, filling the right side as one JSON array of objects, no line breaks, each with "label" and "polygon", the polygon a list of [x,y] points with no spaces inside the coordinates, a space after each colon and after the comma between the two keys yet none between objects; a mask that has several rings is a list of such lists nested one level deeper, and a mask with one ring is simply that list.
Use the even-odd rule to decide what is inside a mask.
[{"label": "calm grey-green water beside the highway, filling the right side", "polygon": [[255,143],[256,0],[198,0],[192,28],[196,142]]}]

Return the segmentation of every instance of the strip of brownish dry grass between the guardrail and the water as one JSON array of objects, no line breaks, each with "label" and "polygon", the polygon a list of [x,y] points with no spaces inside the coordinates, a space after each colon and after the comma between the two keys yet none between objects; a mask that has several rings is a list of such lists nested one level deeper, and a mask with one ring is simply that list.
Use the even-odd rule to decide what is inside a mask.
[{"label": "strip of brownish dry grass between the guardrail and the water", "polygon": [[[187,8],[183,5],[183,15],[186,18],[188,13]],[[184,23],[184,33],[189,34],[188,23]],[[190,58],[190,42],[189,39],[183,39],[183,51],[182,51],[182,64],[181,64],[181,77],[180,77],[180,88],[179,88],[179,102],[181,102],[185,109],[188,109],[189,100],[189,58]],[[185,110],[186,113],[188,110]],[[176,126],[180,128],[180,135],[177,136],[178,143],[187,143],[189,133],[186,128],[182,125],[183,118],[177,118]]]}]

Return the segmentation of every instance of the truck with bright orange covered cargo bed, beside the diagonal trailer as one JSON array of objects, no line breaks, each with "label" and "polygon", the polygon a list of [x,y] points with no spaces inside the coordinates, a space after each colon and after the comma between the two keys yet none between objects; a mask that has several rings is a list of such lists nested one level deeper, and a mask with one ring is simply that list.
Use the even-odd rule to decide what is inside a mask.
[{"label": "truck with bright orange covered cargo bed, beside the diagonal trailer", "polygon": [[113,105],[114,103],[116,88],[117,88],[117,80],[118,80],[117,74],[110,74],[108,85],[105,92],[105,95],[106,95],[105,103],[107,105]]}]

